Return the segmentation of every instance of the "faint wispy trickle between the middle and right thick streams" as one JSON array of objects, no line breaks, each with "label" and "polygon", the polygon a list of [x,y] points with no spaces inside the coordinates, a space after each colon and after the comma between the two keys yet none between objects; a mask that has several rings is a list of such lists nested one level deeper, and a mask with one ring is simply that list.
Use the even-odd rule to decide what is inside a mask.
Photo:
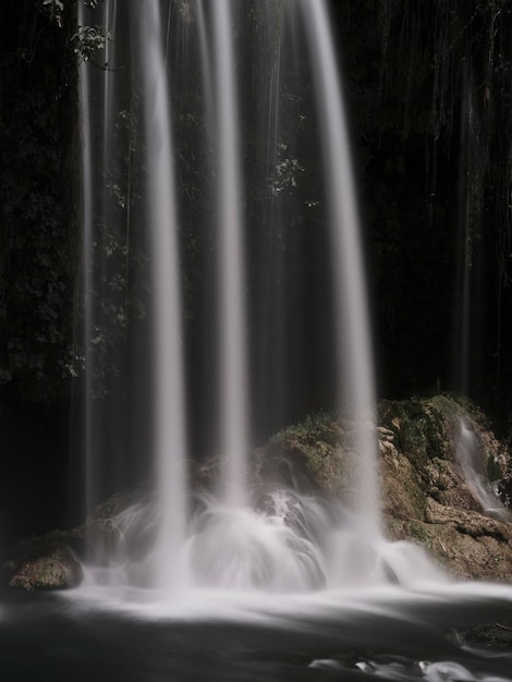
[{"label": "faint wispy trickle between the middle and right thick streams", "polygon": [[[282,93],[290,87],[290,66],[287,60],[287,20],[283,3],[261,3],[264,29],[258,34],[256,44],[257,59],[254,70],[258,83],[257,135],[261,149],[258,158],[260,175],[270,181],[271,195],[277,198],[282,193],[280,184],[283,167],[281,156],[289,150],[287,134],[287,115],[290,115],[290,101]],[[259,176],[256,176],[256,182]],[[254,375],[271,377],[270,389],[264,381],[258,385],[257,376],[253,382],[256,409],[269,423],[270,428],[287,421],[291,391],[287,391],[287,375],[293,366],[294,352],[287,344],[287,337],[292,337],[288,319],[291,296],[288,293],[287,260],[293,260],[293,247],[284,247],[284,224],[289,219],[279,200],[265,202],[260,208],[258,220],[265,226],[261,245],[256,255],[259,278],[259,300],[261,314],[258,319],[263,338],[256,355],[256,366],[266,372],[256,370]],[[295,295],[297,292],[293,291]],[[296,339],[296,336],[294,337]],[[258,400],[259,398],[259,400]]]}]

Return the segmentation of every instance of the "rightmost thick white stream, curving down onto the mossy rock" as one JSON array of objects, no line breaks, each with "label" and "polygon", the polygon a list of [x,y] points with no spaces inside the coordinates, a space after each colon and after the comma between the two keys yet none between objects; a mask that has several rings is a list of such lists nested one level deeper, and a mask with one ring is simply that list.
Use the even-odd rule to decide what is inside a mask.
[{"label": "rightmost thick white stream, curving down onto the mossy rock", "polygon": [[375,388],[371,334],[367,312],[359,218],[352,176],[340,76],[328,15],[322,0],[301,0],[310,42],[317,103],[328,183],[332,282],[339,353],[339,393],[343,416],[351,423],[351,448],[356,454],[354,500],[364,533],[378,535],[379,487],[375,431]]}]

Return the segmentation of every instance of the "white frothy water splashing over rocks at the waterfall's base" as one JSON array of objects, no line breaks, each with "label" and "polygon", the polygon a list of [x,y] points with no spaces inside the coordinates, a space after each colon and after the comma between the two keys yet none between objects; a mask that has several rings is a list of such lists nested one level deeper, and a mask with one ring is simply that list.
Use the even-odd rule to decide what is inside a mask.
[{"label": "white frothy water splashing over rocks at the waterfall's base", "polygon": [[[100,565],[84,567],[85,587],[106,585],[123,598],[130,587],[154,586],[157,510],[135,504],[110,520],[110,549]],[[181,584],[162,583],[179,597],[184,589],[260,590],[279,595],[363,586],[417,587],[448,579],[424,550],[368,535],[365,520],[332,500],[276,488],[233,507],[215,496],[200,496],[187,536],[172,558]],[[151,590],[147,600],[154,599]]]}]

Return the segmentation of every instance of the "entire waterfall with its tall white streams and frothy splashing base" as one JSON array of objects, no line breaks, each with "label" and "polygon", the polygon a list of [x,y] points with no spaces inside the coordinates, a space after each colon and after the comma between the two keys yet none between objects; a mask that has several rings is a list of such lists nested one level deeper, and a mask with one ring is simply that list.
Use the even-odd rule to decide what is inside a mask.
[{"label": "entire waterfall with its tall white streams and frothy splashing base", "polygon": [[[101,70],[82,72],[85,326],[89,345],[93,339],[103,353],[97,353],[99,368],[94,355],[87,358],[86,390],[94,389],[96,369],[106,383],[103,401],[90,413],[99,415],[97,423],[89,417],[100,447],[87,485],[96,499],[108,470],[103,458],[113,461],[120,450],[136,448],[138,466],[153,480],[149,494],[115,516],[111,567],[93,567],[93,573],[100,572],[98,582],[167,592],[196,585],[303,592],[387,582],[406,570],[401,555],[381,552],[371,331],[326,3],[256,2],[246,13],[232,0],[175,0],[166,9],[162,19],[159,0],[107,3],[117,47],[105,58],[114,57],[115,69],[96,85],[102,102],[96,117],[90,82]],[[304,80],[314,87],[304,87]],[[95,176],[92,150],[103,159]],[[200,230],[195,220],[204,222]],[[307,234],[307,221],[318,235]],[[265,239],[261,226],[270,231]],[[200,258],[194,251],[191,256],[197,234]],[[207,260],[208,272],[188,271],[191,257]],[[99,301],[88,279],[94,259],[101,264]],[[319,310],[306,295],[306,276],[315,268],[329,289]],[[287,270],[293,277],[285,282]],[[194,276],[211,290],[211,306],[198,306],[199,313],[192,306],[190,315],[186,294],[194,285],[199,290],[191,287]],[[122,306],[113,297],[118,288]],[[215,315],[215,324],[198,324],[199,314]],[[110,332],[97,331],[96,319],[108,325],[108,315]],[[317,316],[324,320],[318,329]],[[192,352],[197,329],[200,342]],[[333,342],[325,336],[331,332]],[[308,356],[313,351],[324,353],[321,362]],[[118,356],[125,352],[123,364]],[[208,367],[208,380],[197,381],[196,365],[204,367],[205,357],[215,372]],[[118,372],[109,379],[105,367],[112,358]],[[327,373],[315,376],[319,366]],[[348,514],[338,503],[327,510],[314,496],[264,490],[248,478],[255,392],[269,409],[285,398],[308,405],[308,388],[318,390],[327,375],[336,383],[331,406],[348,435],[340,447],[354,461]],[[205,394],[197,401],[199,391]],[[206,416],[191,414],[191,397],[192,404],[206,404]],[[326,388],[324,400],[331,399]],[[279,423],[280,415],[271,416]],[[188,436],[214,418],[208,454],[220,455],[220,464],[215,460],[217,478],[205,492],[188,476],[188,466],[198,471]],[[119,472],[123,463],[111,466]]]}]

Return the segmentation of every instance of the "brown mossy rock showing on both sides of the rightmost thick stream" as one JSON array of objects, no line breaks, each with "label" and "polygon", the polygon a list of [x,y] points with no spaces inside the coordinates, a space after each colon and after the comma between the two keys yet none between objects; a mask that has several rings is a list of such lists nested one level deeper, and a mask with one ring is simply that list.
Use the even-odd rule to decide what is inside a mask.
[{"label": "brown mossy rock showing on both sides of the rightmost thick stream", "polygon": [[[501,495],[496,509],[483,509],[464,479],[458,461],[459,415],[474,430],[478,471],[500,478],[495,482]],[[502,503],[512,490],[511,453],[485,415],[449,395],[382,401],[378,440],[388,537],[424,547],[455,579],[512,582],[512,513]],[[342,443],[343,428],[328,415],[291,427],[280,439],[284,450],[306,458],[322,489],[343,500],[352,485],[353,455]]]}]

